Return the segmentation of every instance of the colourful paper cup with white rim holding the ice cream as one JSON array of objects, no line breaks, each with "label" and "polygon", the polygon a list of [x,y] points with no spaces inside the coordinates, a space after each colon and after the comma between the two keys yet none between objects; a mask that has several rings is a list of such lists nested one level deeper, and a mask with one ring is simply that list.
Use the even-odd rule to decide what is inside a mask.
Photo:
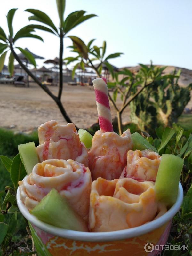
[{"label": "colourful paper cup with white rim holding the ice cream", "polygon": [[41,256],[144,256],[159,255],[165,245],[171,228],[172,217],[179,211],[183,200],[183,189],[179,184],[176,203],[156,220],[135,228],[112,232],[79,232],[57,228],[31,215],[20,200],[17,190],[17,204],[28,220]]}]

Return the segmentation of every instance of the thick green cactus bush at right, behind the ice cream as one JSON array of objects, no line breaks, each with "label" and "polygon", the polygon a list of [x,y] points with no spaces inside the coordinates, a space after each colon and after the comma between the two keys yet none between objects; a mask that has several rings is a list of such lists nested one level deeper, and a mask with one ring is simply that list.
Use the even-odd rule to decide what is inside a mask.
[{"label": "thick green cactus bush at right, behind the ice cream", "polygon": [[177,122],[190,100],[192,84],[185,88],[180,87],[180,71],[174,71],[172,75],[162,75],[165,68],[154,67],[152,64],[150,67],[142,65],[141,70],[147,76],[147,72],[150,72],[152,77],[159,75],[130,104],[132,122],[150,134],[154,134],[154,126],[172,126],[173,122]]}]

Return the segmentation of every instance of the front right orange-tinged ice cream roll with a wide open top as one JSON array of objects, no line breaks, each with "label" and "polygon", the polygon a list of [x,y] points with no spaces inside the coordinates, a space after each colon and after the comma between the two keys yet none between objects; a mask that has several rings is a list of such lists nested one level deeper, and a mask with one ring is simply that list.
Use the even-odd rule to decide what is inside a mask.
[{"label": "front right orange-tinged ice cream roll with a wide open top", "polygon": [[92,182],[89,226],[93,232],[137,227],[165,211],[156,200],[154,182],[131,178]]}]

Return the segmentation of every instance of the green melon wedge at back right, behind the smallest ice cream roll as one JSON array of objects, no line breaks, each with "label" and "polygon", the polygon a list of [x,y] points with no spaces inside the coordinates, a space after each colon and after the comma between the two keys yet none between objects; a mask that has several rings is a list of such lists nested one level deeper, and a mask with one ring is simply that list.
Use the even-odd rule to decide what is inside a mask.
[{"label": "green melon wedge at back right, behind the smallest ice cream roll", "polygon": [[133,150],[145,150],[149,149],[151,151],[155,151],[159,153],[156,148],[154,148],[142,135],[138,132],[135,132],[131,135],[133,141]]}]

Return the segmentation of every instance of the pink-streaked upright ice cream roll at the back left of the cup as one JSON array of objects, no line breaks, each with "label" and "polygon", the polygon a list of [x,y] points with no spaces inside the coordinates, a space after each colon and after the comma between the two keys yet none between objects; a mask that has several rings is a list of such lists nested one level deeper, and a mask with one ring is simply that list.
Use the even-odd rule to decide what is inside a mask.
[{"label": "pink-streaked upright ice cream roll at the back left of the cup", "polygon": [[37,154],[40,162],[47,159],[73,159],[88,166],[88,154],[79,140],[75,124],[58,125],[55,120],[48,121],[38,128],[39,146]]}]

